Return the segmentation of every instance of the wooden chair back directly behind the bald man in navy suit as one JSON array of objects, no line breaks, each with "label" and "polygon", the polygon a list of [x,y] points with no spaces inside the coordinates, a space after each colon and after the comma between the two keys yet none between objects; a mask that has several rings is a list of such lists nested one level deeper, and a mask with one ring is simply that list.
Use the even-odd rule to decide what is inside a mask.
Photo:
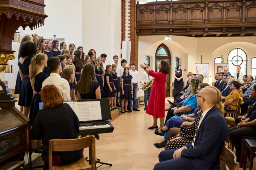
[{"label": "wooden chair back directly behind the bald man in navy suit", "polygon": [[239,163],[236,161],[237,157],[227,146],[228,144],[225,143],[222,148],[222,152],[220,155],[220,170],[225,170],[226,165],[229,170],[238,170]]}]

